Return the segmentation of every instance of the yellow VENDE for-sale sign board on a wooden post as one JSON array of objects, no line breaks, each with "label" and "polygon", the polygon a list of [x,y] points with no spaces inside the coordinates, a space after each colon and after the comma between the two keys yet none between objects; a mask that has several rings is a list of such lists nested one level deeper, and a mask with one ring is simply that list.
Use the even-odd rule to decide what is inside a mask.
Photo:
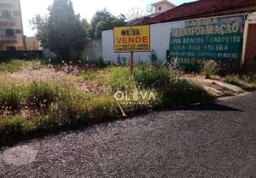
[{"label": "yellow VENDE for-sale sign board on a wooden post", "polygon": [[150,26],[114,27],[114,52],[150,51]]}]

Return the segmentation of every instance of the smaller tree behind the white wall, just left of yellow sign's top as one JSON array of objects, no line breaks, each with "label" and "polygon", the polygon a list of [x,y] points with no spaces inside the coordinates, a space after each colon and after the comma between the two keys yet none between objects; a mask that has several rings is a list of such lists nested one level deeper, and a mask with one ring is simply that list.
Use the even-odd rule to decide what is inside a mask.
[{"label": "smaller tree behind the white wall, just left of yellow sign's top", "polygon": [[92,39],[102,38],[102,31],[111,30],[114,26],[122,26],[125,24],[125,16],[121,14],[116,17],[107,9],[97,11],[91,21],[90,35]]}]

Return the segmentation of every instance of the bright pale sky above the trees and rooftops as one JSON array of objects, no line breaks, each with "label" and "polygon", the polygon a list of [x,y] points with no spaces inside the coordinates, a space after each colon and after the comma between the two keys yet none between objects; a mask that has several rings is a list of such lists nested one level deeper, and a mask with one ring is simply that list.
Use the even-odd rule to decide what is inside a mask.
[{"label": "bright pale sky above the trees and rooftops", "polygon": [[[33,18],[35,14],[46,15],[47,8],[51,6],[54,0],[21,0],[21,13],[23,18],[24,35],[34,36],[36,31],[31,29],[29,19]],[[72,0],[74,11],[80,14],[82,18],[90,21],[97,10],[106,8],[114,16],[119,14],[126,14],[130,8],[138,7],[146,9],[147,5],[159,0]],[[173,4],[179,5],[185,2],[195,0],[172,0]]]}]

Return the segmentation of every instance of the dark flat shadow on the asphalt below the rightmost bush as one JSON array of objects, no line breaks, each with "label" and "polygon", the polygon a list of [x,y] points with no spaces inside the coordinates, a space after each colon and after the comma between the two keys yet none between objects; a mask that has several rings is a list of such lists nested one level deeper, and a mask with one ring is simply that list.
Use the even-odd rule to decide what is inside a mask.
[{"label": "dark flat shadow on the asphalt below the rightmost bush", "polygon": [[231,108],[227,105],[220,105],[217,103],[204,103],[200,105],[191,105],[185,108],[178,108],[176,110],[216,110],[216,111],[239,111],[243,112],[243,110],[239,110],[236,108]]}]

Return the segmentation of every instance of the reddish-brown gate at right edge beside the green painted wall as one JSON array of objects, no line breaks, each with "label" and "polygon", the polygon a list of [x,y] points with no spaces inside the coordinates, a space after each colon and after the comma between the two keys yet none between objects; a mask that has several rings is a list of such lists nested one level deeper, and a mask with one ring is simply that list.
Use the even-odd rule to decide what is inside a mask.
[{"label": "reddish-brown gate at right edge beside the green painted wall", "polygon": [[248,26],[244,68],[247,72],[256,73],[256,23]]}]

